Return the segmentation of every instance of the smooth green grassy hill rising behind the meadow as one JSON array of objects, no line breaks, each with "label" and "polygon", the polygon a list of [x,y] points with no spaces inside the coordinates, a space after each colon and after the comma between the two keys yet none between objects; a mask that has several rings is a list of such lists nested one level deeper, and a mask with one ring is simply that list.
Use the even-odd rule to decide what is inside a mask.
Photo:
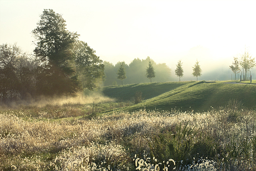
[{"label": "smooth green grassy hill rising behind the meadow", "polygon": [[230,99],[241,101],[248,108],[256,106],[256,85],[247,84],[207,83],[205,81],[143,83],[105,87],[103,93],[109,97],[129,100],[134,97],[136,91],[141,91],[145,100],[137,105],[123,108],[123,110],[176,108],[183,111],[206,111],[211,107],[224,106]]}]

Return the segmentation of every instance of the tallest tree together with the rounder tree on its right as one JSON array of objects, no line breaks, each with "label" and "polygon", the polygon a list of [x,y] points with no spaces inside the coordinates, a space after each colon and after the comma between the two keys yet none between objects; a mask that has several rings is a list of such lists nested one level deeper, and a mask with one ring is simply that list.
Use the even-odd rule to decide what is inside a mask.
[{"label": "tallest tree together with the rounder tree on its right", "polygon": [[96,88],[102,81],[104,64],[95,50],[79,41],[77,33],[68,31],[62,15],[52,9],[45,9],[40,17],[32,33],[43,73],[43,94],[75,95],[85,88]]}]

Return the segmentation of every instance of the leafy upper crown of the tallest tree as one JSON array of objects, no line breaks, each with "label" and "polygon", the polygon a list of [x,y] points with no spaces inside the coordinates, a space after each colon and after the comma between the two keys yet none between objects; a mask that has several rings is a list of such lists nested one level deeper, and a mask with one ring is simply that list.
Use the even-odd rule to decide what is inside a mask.
[{"label": "leafy upper crown of the tallest tree", "polygon": [[79,35],[69,32],[62,15],[52,9],[45,9],[40,18],[37,28],[32,31],[36,39],[35,55],[41,62],[54,65],[66,74],[71,74],[74,71],[70,65],[74,57],[72,49]]}]

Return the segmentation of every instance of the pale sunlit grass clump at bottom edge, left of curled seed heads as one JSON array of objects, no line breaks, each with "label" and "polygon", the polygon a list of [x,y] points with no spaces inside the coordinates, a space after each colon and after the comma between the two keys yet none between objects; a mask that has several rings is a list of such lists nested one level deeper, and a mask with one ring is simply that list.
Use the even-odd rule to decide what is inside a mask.
[{"label": "pale sunlit grass clump at bottom edge, left of curled seed heads", "polygon": [[52,165],[56,170],[128,170],[124,167],[130,158],[120,145],[115,143],[91,143],[62,151]]}]

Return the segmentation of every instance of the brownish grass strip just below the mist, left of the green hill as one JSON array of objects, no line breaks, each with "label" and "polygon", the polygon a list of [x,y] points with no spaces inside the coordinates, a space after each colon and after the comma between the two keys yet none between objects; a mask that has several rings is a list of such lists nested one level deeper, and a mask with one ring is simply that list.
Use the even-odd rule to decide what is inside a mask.
[{"label": "brownish grass strip just below the mist, left of the green hill", "polygon": [[[39,107],[33,106],[17,106],[15,110],[12,110],[16,116],[36,119],[59,119],[59,118],[70,118],[70,117],[82,117],[91,114],[100,114],[102,112],[111,111],[117,108],[123,108],[132,105],[133,102],[111,102],[111,103],[54,103],[47,104]],[[9,113],[9,110],[2,110]]]}]

